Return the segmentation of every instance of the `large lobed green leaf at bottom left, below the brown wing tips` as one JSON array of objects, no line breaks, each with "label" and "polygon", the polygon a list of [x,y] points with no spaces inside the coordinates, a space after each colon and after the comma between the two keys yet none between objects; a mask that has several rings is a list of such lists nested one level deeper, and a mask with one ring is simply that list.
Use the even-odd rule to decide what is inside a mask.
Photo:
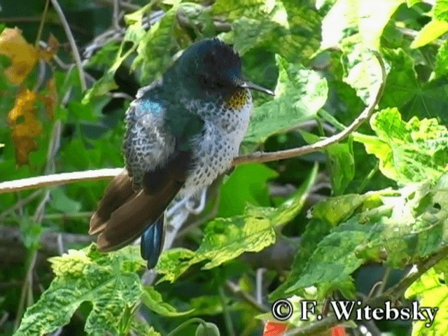
[{"label": "large lobed green leaf at bottom left, below the brown wing tips", "polygon": [[15,336],[54,331],[69,323],[83,302],[93,306],[85,332],[117,335],[130,327],[120,323],[127,311],[136,307],[142,293],[135,272],[144,262],[136,246],[104,255],[92,244],[81,251],[69,250],[61,257],[50,258],[50,262],[55,279],[38,302],[27,309]]}]

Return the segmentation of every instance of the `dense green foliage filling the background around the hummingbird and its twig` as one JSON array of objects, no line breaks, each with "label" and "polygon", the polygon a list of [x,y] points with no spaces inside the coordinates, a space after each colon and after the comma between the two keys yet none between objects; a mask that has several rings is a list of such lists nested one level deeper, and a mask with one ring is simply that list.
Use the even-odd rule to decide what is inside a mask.
[{"label": "dense green foliage filling the background around the hummingbird and its twig", "polygon": [[[366,295],[440,311],[428,329],[364,321],[353,333],[447,334],[447,1],[46,3],[0,4],[1,181],[123,167],[130,99],[200,38],[232,43],[246,76],[276,90],[255,93],[241,153],[314,144],[384,93],[343,141],[239,165],[217,183],[211,216],[189,218],[151,286],[136,248],[101,255],[90,245],[107,181],[2,193],[1,335],[168,335],[186,321],[182,335],[194,335],[202,320],[222,335],[261,335],[276,298],[322,309],[326,297]],[[325,321],[321,332],[335,324]],[[295,315],[289,328],[313,323]]]}]

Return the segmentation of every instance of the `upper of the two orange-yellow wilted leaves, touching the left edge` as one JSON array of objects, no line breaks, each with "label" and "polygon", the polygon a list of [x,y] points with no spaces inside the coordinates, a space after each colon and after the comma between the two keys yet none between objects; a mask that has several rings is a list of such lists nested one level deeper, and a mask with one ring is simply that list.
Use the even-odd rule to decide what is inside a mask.
[{"label": "upper of the two orange-yellow wilted leaves, touching the left edge", "polygon": [[0,55],[10,58],[11,64],[5,69],[5,75],[15,85],[25,80],[38,60],[38,51],[23,38],[18,28],[3,30],[0,35]]}]

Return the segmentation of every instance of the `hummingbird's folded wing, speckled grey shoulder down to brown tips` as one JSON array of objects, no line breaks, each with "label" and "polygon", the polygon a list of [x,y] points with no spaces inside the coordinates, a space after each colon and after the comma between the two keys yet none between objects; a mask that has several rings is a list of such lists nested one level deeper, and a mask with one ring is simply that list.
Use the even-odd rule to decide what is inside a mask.
[{"label": "hummingbird's folded wing, speckled grey shoulder down to brown tips", "polygon": [[[90,221],[90,233],[99,234],[101,251],[113,251],[137,239],[158,220],[186,181],[192,155],[185,144],[199,131],[191,132],[186,118],[178,120],[183,124],[180,131],[177,126],[167,127],[167,123],[176,124],[176,113],[188,113],[179,105],[165,106],[146,90],[137,94],[126,113],[127,172],[112,181]],[[174,119],[166,118],[167,108],[176,112]]]}]

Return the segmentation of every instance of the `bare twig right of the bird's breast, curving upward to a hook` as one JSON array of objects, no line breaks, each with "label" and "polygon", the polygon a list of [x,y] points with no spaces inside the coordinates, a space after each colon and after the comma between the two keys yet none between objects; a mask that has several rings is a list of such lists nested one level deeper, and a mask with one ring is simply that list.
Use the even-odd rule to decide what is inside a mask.
[{"label": "bare twig right of the bird's breast, curving upward to a hook", "polygon": [[292,148],[286,151],[277,151],[272,153],[255,152],[249,155],[240,156],[239,158],[235,158],[235,160],[233,160],[233,165],[235,166],[250,162],[269,162],[295,158],[297,156],[321,151],[323,148],[332,144],[336,144],[337,142],[344,140],[346,137],[349,137],[349,135],[355,132],[358,127],[360,127],[360,125],[365,122],[365,120],[368,120],[372,116],[375,107],[377,106],[379,100],[381,99],[381,96],[383,95],[384,87],[386,86],[386,66],[384,65],[384,60],[377,51],[372,50],[372,52],[374,53],[375,57],[377,57],[379,65],[381,67],[381,83],[379,84],[379,88],[373,102],[369,106],[367,106],[367,108],[358,116],[358,118],[353,121],[353,123],[351,123],[351,125],[346,127],[341,132],[333,135],[332,137],[317,141],[316,143],[308,146],[302,146],[299,148]]}]

